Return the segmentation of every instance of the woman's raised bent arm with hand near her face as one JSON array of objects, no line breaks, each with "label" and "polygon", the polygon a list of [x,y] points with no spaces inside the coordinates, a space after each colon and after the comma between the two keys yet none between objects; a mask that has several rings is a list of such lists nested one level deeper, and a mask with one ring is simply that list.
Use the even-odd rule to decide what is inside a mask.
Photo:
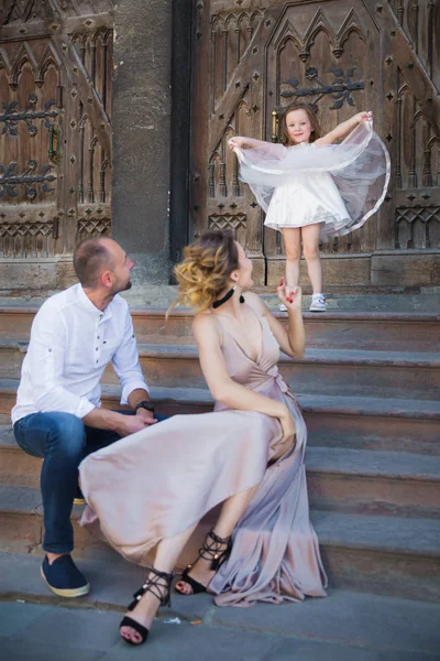
[{"label": "woman's raised bent arm with hand near her face", "polygon": [[[246,302],[249,302],[255,312],[265,316],[271,330],[275,336],[282,351],[292,358],[302,358],[306,349],[306,332],[304,328],[301,314],[301,290],[299,286],[286,291],[284,281],[277,289],[279,301],[287,307],[288,326],[285,326],[274,317],[265,303],[254,293],[246,292]],[[292,303],[290,303],[292,301]]]}]

